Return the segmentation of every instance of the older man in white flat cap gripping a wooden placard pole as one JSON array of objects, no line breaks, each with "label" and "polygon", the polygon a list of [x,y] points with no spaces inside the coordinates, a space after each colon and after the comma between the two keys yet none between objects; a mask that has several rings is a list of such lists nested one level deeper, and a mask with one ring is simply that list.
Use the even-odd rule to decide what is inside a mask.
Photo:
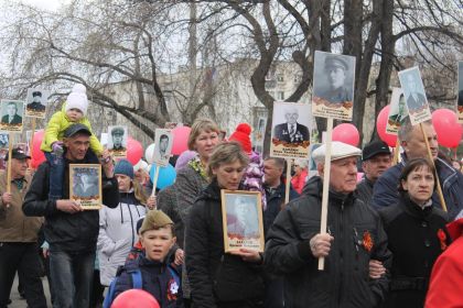
[{"label": "older man in white flat cap gripping a wooden placard pole", "polygon": [[[391,254],[381,220],[356,199],[355,146],[333,142],[331,169],[325,170],[325,145],[313,152],[320,176],[311,177],[300,198],[278,215],[268,234],[266,268],[284,276],[288,307],[377,307],[388,289],[388,273],[369,276],[369,262],[389,267]],[[323,176],[330,172],[327,234],[320,234]],[[319,271],[319,257],[325,270]]]}]

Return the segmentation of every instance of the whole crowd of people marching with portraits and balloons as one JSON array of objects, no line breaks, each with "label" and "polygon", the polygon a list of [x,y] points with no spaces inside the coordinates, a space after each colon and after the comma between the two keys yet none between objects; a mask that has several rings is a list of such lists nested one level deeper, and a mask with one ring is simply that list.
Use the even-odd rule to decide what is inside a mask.
[{"label": "whole crowd of people marching with portraits and balloons", "polygon": [[[432,123],[423,124],[432,160],[420,129],[406,122],[400,163],[392,165],[381,141],[363,150],[333,142],[330,168],[323,144],[312,154],[317,174],[309,177],[308,162],[295,160],[288,179],[284,160],[252,151],[248,124],[224,140],[216,123],[198,119],[189,151],[175,157],[175,183],[152,191],[144,169],[111,160],[86,110],[85,88],[76,85],[49,123],[47,160],[32,177],[26,153],[7,156],[0,308],[11,301],[17,273],[28,307],[47,307],[39,251],[56,308],[110,307],[132,288],[147,290],[160,307],[463,306],[463,175],[440,157]],[[100,210],[84,210],[69,198],[69,164],[76,163],[101,165]],[[222,189],[261,193],[263,252],[225,252]]]}]

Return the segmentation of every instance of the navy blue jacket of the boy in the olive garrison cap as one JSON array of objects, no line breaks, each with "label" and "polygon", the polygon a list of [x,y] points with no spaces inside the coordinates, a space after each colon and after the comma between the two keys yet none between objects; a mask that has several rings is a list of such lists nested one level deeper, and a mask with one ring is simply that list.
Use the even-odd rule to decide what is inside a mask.
[{"label": "navy blue jacket of the boy in the olive garrison cap", "polygon": [[[130,272],[138,268],[141,272],[142,289],[154,296],[161,308],[183,308],[182,284],[176,284],[165,263],[150,261],[144,253],[140,253],[138,258],[127,262],[119,268],[115,298],[122,292],[133,288]],[[176,274],[181,277],[179,272]]]}]

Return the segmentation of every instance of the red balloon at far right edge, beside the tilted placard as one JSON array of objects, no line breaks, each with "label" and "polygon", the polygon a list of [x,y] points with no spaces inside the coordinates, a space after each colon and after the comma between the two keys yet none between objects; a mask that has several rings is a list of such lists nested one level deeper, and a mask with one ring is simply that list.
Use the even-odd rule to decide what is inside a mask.
[{"label": "red balloon at far right edge, beside the tilted placard", "polygon": [[456,147],[462,140],[462,127],[456,113],[450,109],[438,109],[432,112],[432,124],[438,134],[438,143],[446,147]]}]

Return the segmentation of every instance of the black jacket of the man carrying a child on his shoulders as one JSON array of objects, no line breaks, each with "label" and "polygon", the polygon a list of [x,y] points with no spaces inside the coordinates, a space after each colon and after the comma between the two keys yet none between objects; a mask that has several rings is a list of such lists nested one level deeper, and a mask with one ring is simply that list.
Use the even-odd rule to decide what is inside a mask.
[{"label": "black jacket of the man carrying a child on his shoulders", "polygon": [[[65,160],[63,199],[69,198],[69,163]],[[82,162],[74,163],[98,164],[99,161],[88,150]],[[45,239],[50,243],[51,251],[57,250],[71,253],[95,251],[99,230],[98,211],[85,210],[77,213],[67,213],[57,210],[56,201],[49,200],[50,168],[49,162],[44,162],[35,172],[22,205],[24,215],[45,216]],[[103,189],[103,204],[109,208],[116,208],[119,204],[118,184],[116,177],[111,178],[110,182],[111,187]]]}]

